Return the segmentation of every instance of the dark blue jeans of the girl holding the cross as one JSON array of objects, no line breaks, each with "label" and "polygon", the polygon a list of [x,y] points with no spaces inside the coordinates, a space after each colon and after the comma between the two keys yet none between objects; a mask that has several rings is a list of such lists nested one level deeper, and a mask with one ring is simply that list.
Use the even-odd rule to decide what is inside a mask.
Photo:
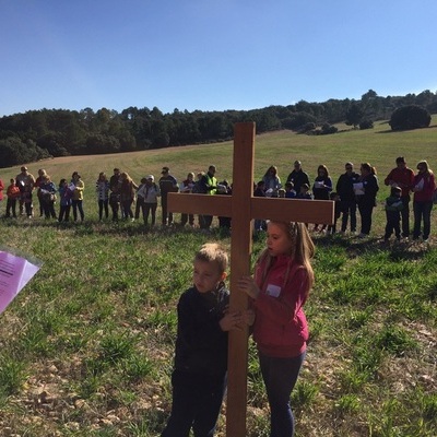
[{"label": "dark blue jeans of the girl holding the cross", "polygon": [[299,376],[305,352],[293,358],[274,358],[258,353],[270,404],[270,437],[292,437],[294,416],[290,397]]}]

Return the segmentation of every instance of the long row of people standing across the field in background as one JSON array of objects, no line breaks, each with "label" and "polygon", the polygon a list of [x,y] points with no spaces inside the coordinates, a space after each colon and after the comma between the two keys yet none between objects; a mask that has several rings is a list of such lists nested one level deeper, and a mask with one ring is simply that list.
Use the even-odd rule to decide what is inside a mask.
[{"label": "long row of people standing across the field in background", "polygon": [[[434,174],[426,161],[416,165],[417,173],[406,166],[405,158],[395,160],[395,167],[385,178],[386,186],[390,186],[390,196],[386,199],[387,226],[383,238],[388,240],[394,233],[397,239],[422,238],[427,240],[430,234],[430,213],[436,198],[436,182]],[[156,211],[161,201],[163,226],[172,226],[175,217],[167,208],[169,192],[203,193],[203,194],[232,194],[232,185],[226,180],[217,181],[216,167],[210,165],[206,172],[197,175],[190,172],[178,184],[170,174],[169,167],[162,168],[161,177],[155,181],[153,175],[141,179],[135,184],[127,172],[114,168],[110,178],[102,172],[95,182],[95,196],[98,202],[98,220],[130,220],[143,218],[145,225],[156,224]],[[27,167],[21,167],[21,172],[8,186],[0,179],[0,200],[5,190],[7,205],[5,217],[16,217],[17,214],[32,218],[37,213],[34,211],[35,197],[38,202],[39,216],[55,218],[59,222],[69,222],[70,212],[74,222],[83,222],[85,213],[83,209],[84,182],[78,172],[73,172],[71,179],[61,179],[59,185],[51,180],[45,169],[39,169],[35,178],[28,173]],[[333,225],[311,224],[312,232],[322,233],[356,233],[365,238],[370,234],[373,212],[376,206],[376,198],[379,190],[379,181],[375,167],[369,163],[362,163],[359,173],[355,172],[352,162],[345,164],[345,172],[334,182],[326,165],[319,165],[314,182],[302,167],[299,161],[295,161],[294,168],[283,184],[277,173],[277,167],[270,166],[262,178],[253,184],[253,196],[277,197],[287,199],[331,200],[335,203],[335,222]],[[36,194],[36,196],[35,196]],[[413,229],[410,227],[411,198],[413,198]],[[398,199],[398,201],[395,201]],[[56,211],[58,204],[58,211]],[[17,211],[19,209],[19,211]],[[357,228],[357,215],[359,213],[361,227]],[[196,223],[197,218],[197,223]],[[209,229],[212,225],[212,215],[199,215],[182,213],[181,226],[198,225]],[[338,223],[339,222],[339,228]],[[221,227],[231,227],[231,218],[218,217]],[[264,231],[263,220],[255,221],[256,231]]]}]

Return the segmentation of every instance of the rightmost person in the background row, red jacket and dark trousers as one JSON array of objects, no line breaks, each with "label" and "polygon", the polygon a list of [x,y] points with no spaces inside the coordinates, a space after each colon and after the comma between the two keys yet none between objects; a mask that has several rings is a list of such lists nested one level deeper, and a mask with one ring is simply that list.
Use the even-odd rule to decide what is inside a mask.
[{"label": "rightmost person in the background row, red jacket and dark trousers", "polygon": [[[433,196],[435,190],[436,181],[434,173],[426,161],[421,161],[417,163],[417,174],[414,176],[413,186],[414,240],[417,240],[422,234],[423,241],[428,241],[430,233],[430,212],[433,210]],[[421,232],[422,222],[423,231]]]}]

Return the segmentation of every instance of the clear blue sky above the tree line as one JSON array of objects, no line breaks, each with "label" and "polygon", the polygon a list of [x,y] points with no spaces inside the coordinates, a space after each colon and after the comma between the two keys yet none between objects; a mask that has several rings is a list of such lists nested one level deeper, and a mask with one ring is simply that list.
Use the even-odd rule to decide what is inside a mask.
[{"label": "clear blue sky above the tree line", "polygon": [[0,0],[0,117],[437,91],[436,0]]}]

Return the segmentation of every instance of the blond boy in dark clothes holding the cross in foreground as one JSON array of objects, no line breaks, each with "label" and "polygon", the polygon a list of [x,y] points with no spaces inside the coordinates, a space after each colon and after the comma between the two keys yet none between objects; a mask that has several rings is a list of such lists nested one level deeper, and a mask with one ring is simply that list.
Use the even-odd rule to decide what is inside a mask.
[{"label": "blond boy in dark clothes holding the cross in foreground", "polygon": [[193,286],[179,298],[173,405],[162,437],[212,437],[226,388],[227,331],[243,317],[227,311],[227,253],[210,243],[196,253]]}]

